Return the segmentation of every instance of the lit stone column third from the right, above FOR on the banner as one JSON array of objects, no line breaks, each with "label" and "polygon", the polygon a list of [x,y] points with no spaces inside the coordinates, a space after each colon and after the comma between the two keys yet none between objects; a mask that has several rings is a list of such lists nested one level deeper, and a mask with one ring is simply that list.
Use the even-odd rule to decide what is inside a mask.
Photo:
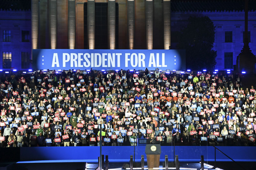
[{"label": "lit stone column third from the right, above FOR on the banner", "polygon": [[135,25],[135,3],[134,0],[128,0],[128,38],[129,49],[134,49],[134,25]]}]

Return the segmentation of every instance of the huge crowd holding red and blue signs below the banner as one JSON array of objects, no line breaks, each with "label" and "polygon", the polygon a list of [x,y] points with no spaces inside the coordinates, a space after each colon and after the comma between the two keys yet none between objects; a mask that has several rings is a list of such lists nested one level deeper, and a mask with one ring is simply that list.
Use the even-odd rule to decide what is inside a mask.
[{"label": "huge crowd holding red and blue signs below the banner", "polygon": [[[3,74],[0,147],[255,146],[240,74],[95,70]],[[143,140],[144,139],[144,140]]]}]

